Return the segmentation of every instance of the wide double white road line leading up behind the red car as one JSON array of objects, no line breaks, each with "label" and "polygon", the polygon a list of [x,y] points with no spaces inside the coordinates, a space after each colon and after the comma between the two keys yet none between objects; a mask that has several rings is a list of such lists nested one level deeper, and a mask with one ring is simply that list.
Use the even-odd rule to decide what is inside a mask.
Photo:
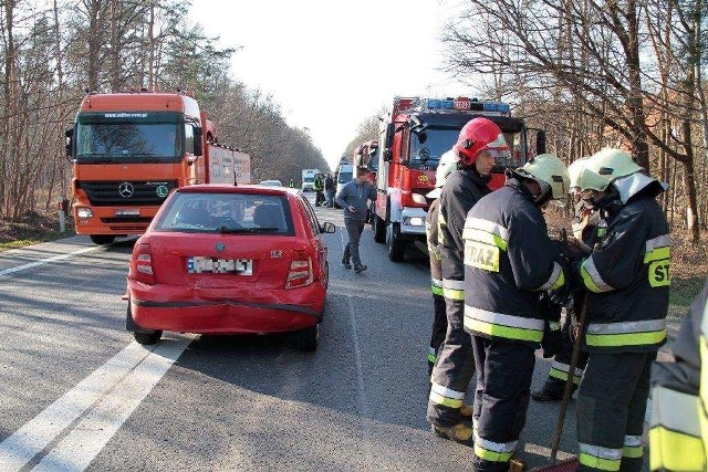
[{"label": "wide double white road line leading up behind the red car", "polygon": [[192,339],[127,345],[2,441],[0,470],[21,470],[62,434],[34,470],[84,470]]}]

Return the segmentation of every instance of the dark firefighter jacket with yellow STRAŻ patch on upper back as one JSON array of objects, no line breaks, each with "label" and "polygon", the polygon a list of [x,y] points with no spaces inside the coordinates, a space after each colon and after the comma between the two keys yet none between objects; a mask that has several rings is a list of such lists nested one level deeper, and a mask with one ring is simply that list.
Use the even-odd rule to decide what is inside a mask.
[{"label": "dark firefighter jacket with yellow STRA\u017b patch on upper back", "polygon": [[545,326],[540,291],[565,283],[541,210],[517,179],[482,198],[465,223],[465,329],[531,344]]}]

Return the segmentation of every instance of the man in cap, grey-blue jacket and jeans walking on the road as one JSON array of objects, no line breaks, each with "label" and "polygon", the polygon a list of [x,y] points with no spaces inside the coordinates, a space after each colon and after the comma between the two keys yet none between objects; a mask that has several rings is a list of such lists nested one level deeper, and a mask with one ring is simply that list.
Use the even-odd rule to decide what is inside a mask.
[{"label": "man in cap, grey-blue jacket and jeans walking on the road", "polygon": [[350,241],[344,247],[342,265],[351,269],[350,256],[354,262],[354,272],[360,273],[367,269],[362,264],[358,253],[358,241],[364,231],[364,221],[368,211],[368,200],[376,200],[376,189],[368,181],[368,169],[366,167],[356,168],[356,178],[350,180],[342,187],[336,196],[336,202],[344,211],[344,227],[350,235]]}]

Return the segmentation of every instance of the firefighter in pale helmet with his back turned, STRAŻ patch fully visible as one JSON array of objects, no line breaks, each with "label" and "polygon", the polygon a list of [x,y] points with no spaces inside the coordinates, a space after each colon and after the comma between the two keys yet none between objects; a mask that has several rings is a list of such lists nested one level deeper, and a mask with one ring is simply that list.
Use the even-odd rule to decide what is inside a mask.
[{"label": "firefighter in pale helmet with his back turned, STRA\u017b patch fully visible", "polygon": [[[507,471],[525,423],[539,343],[544,357],[560,346],[560,310],[546,292],[570,294],[558,247],[541,209],[565,199],[570,178],[550,154],[509,171],[465,222],[465,329],[477,368],[476,471]],[[553,318],[549,318],[553,314]]]}]

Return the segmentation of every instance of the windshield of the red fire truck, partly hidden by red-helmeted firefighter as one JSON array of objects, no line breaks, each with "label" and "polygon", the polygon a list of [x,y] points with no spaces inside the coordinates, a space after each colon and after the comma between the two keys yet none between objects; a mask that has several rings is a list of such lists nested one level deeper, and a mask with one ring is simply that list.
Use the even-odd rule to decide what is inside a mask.
[{"label": "windshield of the red fire truck, partly hidden by red-helmeted firefighter", "polygon": [[[440,156],[457,141],[459,129],[428,128],[421,135],[410,134],[410,159],[408,167],[435,170]],[[525,141],[521,133],[504,133],[507,148],[493,149],[497,168],[521,167],[525,162]]]}]

